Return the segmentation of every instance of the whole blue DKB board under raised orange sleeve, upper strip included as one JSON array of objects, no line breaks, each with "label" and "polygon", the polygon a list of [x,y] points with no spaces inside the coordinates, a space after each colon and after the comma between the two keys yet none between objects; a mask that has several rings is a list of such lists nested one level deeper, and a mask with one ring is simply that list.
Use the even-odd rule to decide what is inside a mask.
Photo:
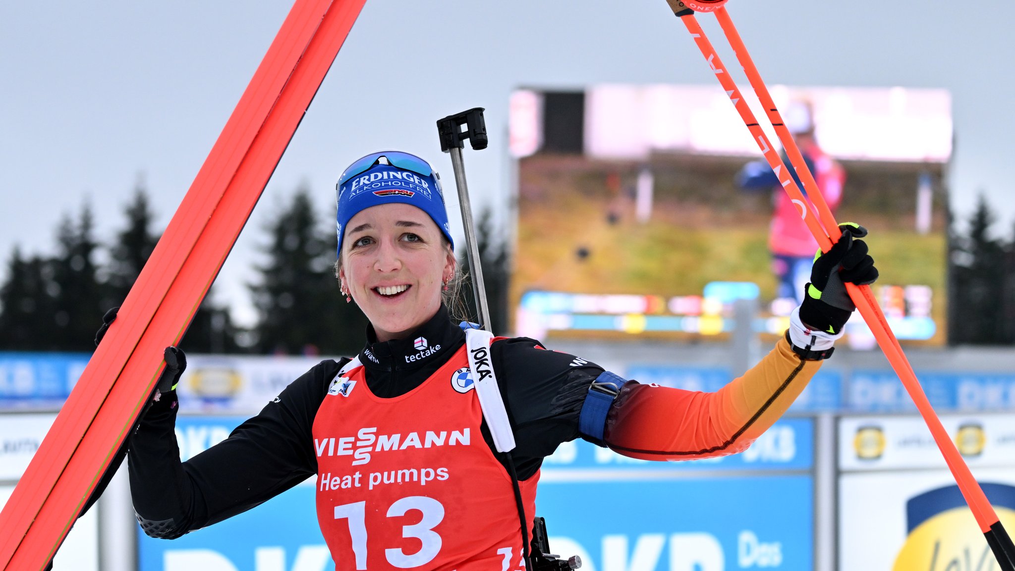
[{"label": "whole blue DKB board under raised orange sleeve, upper strip included", "polygon": [[537,500],[550,548],[583,571],[812,569],[813,432],[786,419],[744,453],[673,462],[564,444]]}]

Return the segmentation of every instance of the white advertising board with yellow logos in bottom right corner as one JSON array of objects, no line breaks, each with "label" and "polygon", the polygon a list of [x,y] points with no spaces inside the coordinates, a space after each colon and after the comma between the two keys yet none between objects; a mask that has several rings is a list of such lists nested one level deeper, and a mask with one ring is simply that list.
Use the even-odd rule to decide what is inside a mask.
[{"label": "white advertising board with yellow logos in bottom right corner", "polygon": [[[1015,525],[1015,419],[947,415],[942,424],[1002,523]],[[919,417],[839,420],[840,569],[992,568],[992,556]]]}]

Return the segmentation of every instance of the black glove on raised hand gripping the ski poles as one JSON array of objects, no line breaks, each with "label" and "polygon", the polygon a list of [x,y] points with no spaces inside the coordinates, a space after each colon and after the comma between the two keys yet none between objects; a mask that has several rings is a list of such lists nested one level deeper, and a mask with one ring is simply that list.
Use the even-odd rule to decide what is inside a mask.
[{"label": "black glove on raised hand gripping the ski poles", "polygon": [[845,283],[872,284],[878,279],[874,259],[867,254],[867,243],[856,239],[867,235],[867,228],[848,222],[839,224],[842,237],[825,254],[818,252],[811,268],[811,283],[800,304],[800,320],[805,326],[838,335],[857,308],[845,292]]}]

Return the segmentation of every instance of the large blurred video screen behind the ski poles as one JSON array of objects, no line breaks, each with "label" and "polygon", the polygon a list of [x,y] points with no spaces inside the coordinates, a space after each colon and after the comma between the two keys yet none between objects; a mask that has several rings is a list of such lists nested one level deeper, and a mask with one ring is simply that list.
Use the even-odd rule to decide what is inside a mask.
[{"label": "large blurred video screen behind the ski poles", "polygon": [[[948,93],[774,91],[836,218],[870,230],[896,336],[942,344]],[[817,245],[724,92],[520,90],[511,109],[518,333],[721,338],[738,299],[760,308],[755,330],[782,333]],[[873,346],[859,316],[847,332]]]}]

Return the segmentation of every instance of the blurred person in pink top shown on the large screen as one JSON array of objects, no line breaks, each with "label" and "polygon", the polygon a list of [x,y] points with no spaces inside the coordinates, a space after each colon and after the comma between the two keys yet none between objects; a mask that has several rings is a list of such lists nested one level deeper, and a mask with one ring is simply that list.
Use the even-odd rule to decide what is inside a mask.
[{"label": "blurred person in pink top shown on the large screen", "polygon": [[[783,120],[790,133],[793,133],[800,152],[804,155],[804,161],[814,174],[825,202],[834,212],[842,200],[845,172],[838,162],[818,146],[814,137],[814,119],[810,104],[803,101],[791,103],[783,115]],[[797,187],[804,196],[807,196],[804,185],[785,153],[783,160],[790,167],[790,173]],[[736,182],[747,191],[766,189],[772,191],[773,212],[768,231],[768,249],[771,252],[771,270],[779,280],[775,296],[792,297],[797,302],[802,301],[804,286],[810,281],[811,263],[818,243],[801,219],[800,209],[790,200],[780,185],[779,177],[765,160],[754,160],[745,164],[737,174]],[[810,202],[809,197],[808,202]]]}]

